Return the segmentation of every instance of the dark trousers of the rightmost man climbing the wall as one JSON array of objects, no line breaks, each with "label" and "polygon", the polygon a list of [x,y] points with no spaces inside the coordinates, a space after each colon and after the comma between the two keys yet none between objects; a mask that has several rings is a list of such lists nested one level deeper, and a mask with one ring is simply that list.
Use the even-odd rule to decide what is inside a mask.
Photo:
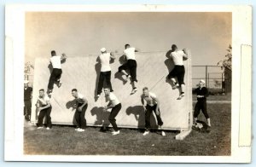
[{"label": "dark trousers of the rightmost man climbing the wall", "polygon": [[185,67],[184,66],[174,66],[172,72],[167,76],[168,79],[177,77],[177,83],[179,85],[184,84]]}]

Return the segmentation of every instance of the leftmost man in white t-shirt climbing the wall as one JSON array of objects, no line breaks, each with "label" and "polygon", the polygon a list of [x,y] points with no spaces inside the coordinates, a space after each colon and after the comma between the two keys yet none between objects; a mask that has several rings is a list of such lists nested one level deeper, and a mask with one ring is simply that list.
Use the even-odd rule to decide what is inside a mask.
[{"label": "leftmost man in white t-shirt climbing the wall", "polygon": [[67,56],[65,54],[56,55],[55,50],[51,51],[51,58],[49,59],[53,70],[50,73],[49,83],[48,83],[48,94],[51,95],[54,83],[57,82],[58,87],[61,87],[61,61],[66,60]]}]

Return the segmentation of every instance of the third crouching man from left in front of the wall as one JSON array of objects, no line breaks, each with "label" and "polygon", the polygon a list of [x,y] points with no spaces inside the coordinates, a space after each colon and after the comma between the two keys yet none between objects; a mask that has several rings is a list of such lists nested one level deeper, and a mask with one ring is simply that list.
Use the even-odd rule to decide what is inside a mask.
[{"label": "third crouching man from left in front of the wall", "polygon": [[104,107],[104,111],[107,111],[109,108],[112,108],[108,117],[110,124],[112,124],[113,126],[112,135],[119,135],[120,131],[116,124],[115,117],[118,115],[119,111],[121,110],[122,105],[119,102],[118,98],[115,95],[113,95],[112,92],[110,92],[109,88],[105,88],[104,93],[105,93],[106,100],[109,101],[108,106]]}]

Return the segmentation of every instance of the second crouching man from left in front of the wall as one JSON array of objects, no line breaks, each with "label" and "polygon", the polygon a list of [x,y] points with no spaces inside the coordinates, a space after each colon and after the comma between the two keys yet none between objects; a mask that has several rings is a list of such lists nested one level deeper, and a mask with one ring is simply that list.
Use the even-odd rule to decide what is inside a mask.
[{"label": "second crouching man from left in front of the wall", "polygon": [[86,128],[86,119],[84,118],[85,111],[88,107],[88,101],[84,98],[84,95],[79,94],[77,89],[72,89],[72,95],[75,98],[75,105],[76,108],[75,112],[75,120],[77,122],[76,131],[83,132]]}]

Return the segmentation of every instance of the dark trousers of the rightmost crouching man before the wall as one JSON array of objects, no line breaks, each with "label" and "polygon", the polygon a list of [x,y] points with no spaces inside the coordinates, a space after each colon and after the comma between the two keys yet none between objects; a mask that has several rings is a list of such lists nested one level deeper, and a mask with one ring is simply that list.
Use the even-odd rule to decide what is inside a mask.
[{"label": "dark trousers of the rightmost crouching man before the wall", "polygon": [[[157,119],[157,124],[160,126],[164,124],[160,117],[160,114],[157,115],[155,109],[156,109],[156,105],[154,105],[153,107],[150,107],[148,105],[146,106],[146,112],[145,112],[145,123],[146,123],[145,128],[146,128],[146,130],[148,130],[150,128],[150,117],[151,117],[153,111],[154,111],[156,119]],[[158,111],[160,112],[160,108],[158,108]]]}]

